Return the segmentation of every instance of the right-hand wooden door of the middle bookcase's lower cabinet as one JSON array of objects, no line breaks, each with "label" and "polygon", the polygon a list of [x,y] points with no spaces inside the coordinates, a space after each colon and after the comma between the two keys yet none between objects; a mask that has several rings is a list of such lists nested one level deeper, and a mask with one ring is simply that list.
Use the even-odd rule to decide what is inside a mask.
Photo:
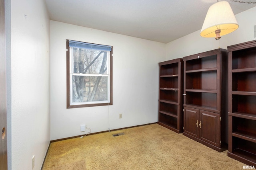
[{"label": "right-hand wooden door of the middle bookcase's lower cabinet", "polygon": [[200,110],[200,139],[220,147],[220,114]]}]

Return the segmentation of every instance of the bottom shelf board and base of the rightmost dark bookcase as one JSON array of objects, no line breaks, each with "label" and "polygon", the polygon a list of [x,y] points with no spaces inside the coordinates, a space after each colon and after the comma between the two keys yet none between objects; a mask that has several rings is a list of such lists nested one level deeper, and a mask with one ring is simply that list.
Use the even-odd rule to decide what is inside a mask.
[{"label": "bottom shelf board and base of the rightmost dark bookcase", "polygon": [[[245,156],[244,154],[247,154],[247,156]],[[244,164],[247,164],[249,166],[255,166],[256,167],[256,155],[255,154],[251,154],[250,152],[245,152],[244,154],[239,154],[239,153],[231,153],[228,152],[228,156],[230,158],[233,158],[235,160],[238,160]]]}]

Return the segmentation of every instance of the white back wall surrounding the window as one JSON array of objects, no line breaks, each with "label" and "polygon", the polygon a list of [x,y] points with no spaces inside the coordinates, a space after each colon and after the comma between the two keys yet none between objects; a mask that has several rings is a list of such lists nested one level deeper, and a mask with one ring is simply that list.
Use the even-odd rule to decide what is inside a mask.
[{"label": "white back wall surrounding the window", "polygon": [[[165,44],[51,21],[51,140],[158,120],[158,63]],[[113,46],[113,105],[66,109],[66,39]],[[122,113],[122,119],[119,114]]]}]

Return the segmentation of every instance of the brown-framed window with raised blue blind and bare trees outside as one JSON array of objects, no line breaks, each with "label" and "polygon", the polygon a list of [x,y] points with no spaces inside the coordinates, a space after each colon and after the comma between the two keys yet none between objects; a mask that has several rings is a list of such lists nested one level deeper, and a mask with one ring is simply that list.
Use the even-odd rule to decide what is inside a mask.
[{"label": "brown-framed window with raised blue blind and bare trees outside", "polygon": [[112,105],[112,46],[66,40],[67,108]]}]

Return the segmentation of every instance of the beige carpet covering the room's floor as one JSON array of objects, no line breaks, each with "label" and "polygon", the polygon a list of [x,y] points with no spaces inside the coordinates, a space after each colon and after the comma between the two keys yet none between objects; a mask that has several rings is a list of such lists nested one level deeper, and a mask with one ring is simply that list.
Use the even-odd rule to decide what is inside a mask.
[{"label": "beige carpet covering the room's floor", "polygon": [[243,165],[227,151],[152,124],[51,143],[43,170],[242,170]]}]

